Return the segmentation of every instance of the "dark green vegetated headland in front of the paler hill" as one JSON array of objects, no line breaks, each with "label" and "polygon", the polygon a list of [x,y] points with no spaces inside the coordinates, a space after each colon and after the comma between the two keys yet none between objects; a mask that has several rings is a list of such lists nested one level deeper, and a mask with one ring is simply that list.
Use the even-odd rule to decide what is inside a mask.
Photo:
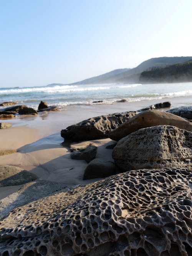
[{"label": "dark green vegetated headland in front of the paler hill", "polygon": [[154,67],[149,71],[143,71],[140,75],[140,81],[144,83],[192,81],[192,60],[164,68]]}]

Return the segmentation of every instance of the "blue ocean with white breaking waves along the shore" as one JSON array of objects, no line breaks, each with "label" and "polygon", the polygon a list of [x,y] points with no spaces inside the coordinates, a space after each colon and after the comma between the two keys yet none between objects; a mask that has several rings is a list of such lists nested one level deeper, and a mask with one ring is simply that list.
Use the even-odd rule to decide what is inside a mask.
[{"label": "blue ocean with white breaking waves along the shore", "polygon": [[[113,104],[122,99],[141,101],[186,96],[192,96],[192,83],[114,83],[0,88],[0,103],[17,101],[17,105],[26,105],[35,109],[38,108],[41,100],[46,101],[49,106],[64,108],[68,105]],[[100,102],[93,103],[93,101]]]}]

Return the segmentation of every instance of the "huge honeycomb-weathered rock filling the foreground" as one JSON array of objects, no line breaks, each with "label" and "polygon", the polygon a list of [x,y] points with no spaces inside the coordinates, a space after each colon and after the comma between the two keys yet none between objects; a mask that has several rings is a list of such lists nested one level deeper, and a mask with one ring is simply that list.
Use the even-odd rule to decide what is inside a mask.
[{"label": "huge honeycomb-weathered rock filling the foreground", "polygon": [[191,219],[191,170],[134,170],[14,209],[0,255],[189,256]]}]

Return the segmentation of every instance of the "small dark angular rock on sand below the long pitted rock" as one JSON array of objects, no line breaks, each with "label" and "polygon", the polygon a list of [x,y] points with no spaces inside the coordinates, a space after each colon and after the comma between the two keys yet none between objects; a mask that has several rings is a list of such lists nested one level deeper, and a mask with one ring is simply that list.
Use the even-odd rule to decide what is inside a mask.
[{"label": "small dark angular rock on sand below the long pitted rock", "polygon": [[71,153],[71,158],[76,160],[85,160],[89,163],[93,160],[97,153],[97,147],[89,145],[86,148],[80,149],[79,151],[74,151]]}]

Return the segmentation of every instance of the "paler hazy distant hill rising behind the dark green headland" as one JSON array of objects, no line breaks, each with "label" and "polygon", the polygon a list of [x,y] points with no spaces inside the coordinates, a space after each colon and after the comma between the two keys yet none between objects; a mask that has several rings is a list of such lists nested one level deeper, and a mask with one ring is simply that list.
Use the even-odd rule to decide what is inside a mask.
[{"label": "paler hazy distant hill rising behind the dark green headland", "polygon": [[103,75],[94,76],[76,83],[77,84],[98,84],[98,83],[140,83],[140,75],[143,71],[154,68],[163,68],[176,63],[183,63],[191,60],[192,57],[159,57],[151,58],[139,64],[136,68],[123,68],[113,70]]}]

